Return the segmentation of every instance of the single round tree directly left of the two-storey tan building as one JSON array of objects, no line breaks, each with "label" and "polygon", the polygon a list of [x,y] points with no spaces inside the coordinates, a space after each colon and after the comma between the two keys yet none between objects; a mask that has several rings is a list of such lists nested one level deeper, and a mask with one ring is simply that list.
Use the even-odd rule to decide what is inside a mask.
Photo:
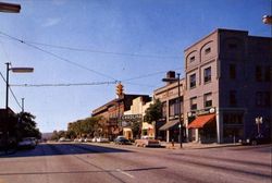
[{"label": "single round tree directly left of the two-storey tan building", "polygon": [[145,122],[152,123],[162,118],[162,103],[159,99],[154,100],[146,110]]}]

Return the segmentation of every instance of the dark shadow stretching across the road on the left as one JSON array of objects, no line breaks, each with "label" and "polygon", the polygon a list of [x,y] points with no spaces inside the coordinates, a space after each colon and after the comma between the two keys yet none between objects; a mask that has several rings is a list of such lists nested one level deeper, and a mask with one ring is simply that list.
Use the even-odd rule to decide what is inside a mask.
[{"label": "dark shadow stretching across the road on the left", "polygon": [[11,155],[1,155],[0,158],[112,152],[131,152],[131,150],[89,144],[39,144],[35,149],[22,149]]}]

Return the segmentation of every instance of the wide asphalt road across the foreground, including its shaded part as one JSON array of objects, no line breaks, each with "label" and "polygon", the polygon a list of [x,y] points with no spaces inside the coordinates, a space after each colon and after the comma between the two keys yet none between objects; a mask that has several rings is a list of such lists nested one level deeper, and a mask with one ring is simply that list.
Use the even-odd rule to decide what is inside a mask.
[{"label": "wide asphalt road across the foreground, including its shaded part", "polygon": [[40,144],[0,157],[0,183],[271,183],[271,145],[209,149]]}]

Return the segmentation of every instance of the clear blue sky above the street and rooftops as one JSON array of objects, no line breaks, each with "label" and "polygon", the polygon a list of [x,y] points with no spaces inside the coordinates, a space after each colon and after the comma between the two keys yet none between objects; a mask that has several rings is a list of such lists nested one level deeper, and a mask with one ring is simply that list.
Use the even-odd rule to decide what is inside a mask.
[{"label": "clear blue sky above the street and rooftops", "polygon": [[217,28],[271,37],[262,23],[271,0],[3,1],[21,4],[21,12],[0,12],[0,72],[5,77],[7,62],[34,68],[10,72],[10,84],[35,85],[11,86],[9,107],[20,112],[24,98],[41,132],[90,117],[115,98],[115,81],[126,94],[151,96],[168,71],[184,75],[184,50]]}]

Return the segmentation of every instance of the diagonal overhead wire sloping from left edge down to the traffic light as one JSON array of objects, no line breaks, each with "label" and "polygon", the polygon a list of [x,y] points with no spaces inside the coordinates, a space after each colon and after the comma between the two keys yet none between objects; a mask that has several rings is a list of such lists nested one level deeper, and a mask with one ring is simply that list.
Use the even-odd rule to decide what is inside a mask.
[{"label": "diagonal overhead wire sloping from left edge down to the traffic light", "polygon": [[91,69],[89,69],[89,68],[87,68],[87,66],[84,66],[84,65],[82,65],[82,64],[79,64],[79,63],[76,63],[76,62],[73,62],[73,61],[71,61],[71,60],[69,60],[69,59],[65,59],[65,58],[63,58],[63,57],[60,57],[60,56],[58,56],[58,54],[55,54],[55,53],[53,53],[53,52],[50,52],[50,51],[45,50],[45,49],[41,49],[41,48],[39,48],[39,47],[37,47],[37,46],[35,46],[35,45],[28,44],[28,42],[26,42],[26,41],[24,41],[24,40],[22,40],[22,39],[18,39],[18,38],[16,38],[16,37],[13,37],[13,36],[11,36],[11,35],[8,35],[8,34],[5,34],[5,33],[3,33],[3,32],[1,32],[1,30],[0,30],[0,34],[2,34],[2,35],[7,36],[7,37],[9,37],[9,38],[11,38],[11,39],[13,39],[13,40],[16,40],[16,41],[18,41],[18,42],[21,42],[21,44],[24,44],[24,45],[26,45],[26,46],[28,46],[28,47],[32,47],[32,48],[34,48],[34,49],[37,49],[37,50],[39,50],[39,51],[41,51],[41,52],[45,52],[45,53],[47,53],[47,54],[50,54],[51,57],[54,57],[54,58],[57,58],[57,59],[59,59],[59,60],[62,60],[62,61],[67,62],[67,63],[70,63],[70,64],[72,64],[72,65],[75,65],[75,66],[77,66],[77,68],[87,70],[87,71],[89,71],[89,72],[96,73],[96,74],[98,74],[98,75],[101,75],[101,76],[104,76],[104,77],[108,77],[108,78],[111,78],[111,80],[113,80],[114,82],[118,81],[116,78],[114,78],[114,77],[112,77],[112,76],[110,76],[110,75],[107,75],[107,74],[103,74],[103,73],[101,73],[101,72],[91,70]]}]

